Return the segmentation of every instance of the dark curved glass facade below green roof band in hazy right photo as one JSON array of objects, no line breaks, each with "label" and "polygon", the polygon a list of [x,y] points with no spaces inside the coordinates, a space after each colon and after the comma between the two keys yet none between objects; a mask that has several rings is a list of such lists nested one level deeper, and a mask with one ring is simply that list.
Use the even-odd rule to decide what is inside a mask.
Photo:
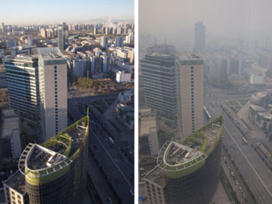
[{"label": "dark curved glass facade below green roof band in hazy right photo", "polygon": [[169,204],[207,204],[220,178],[221,139],[205,160],[205,165],[181,178],[165,176]]}]

